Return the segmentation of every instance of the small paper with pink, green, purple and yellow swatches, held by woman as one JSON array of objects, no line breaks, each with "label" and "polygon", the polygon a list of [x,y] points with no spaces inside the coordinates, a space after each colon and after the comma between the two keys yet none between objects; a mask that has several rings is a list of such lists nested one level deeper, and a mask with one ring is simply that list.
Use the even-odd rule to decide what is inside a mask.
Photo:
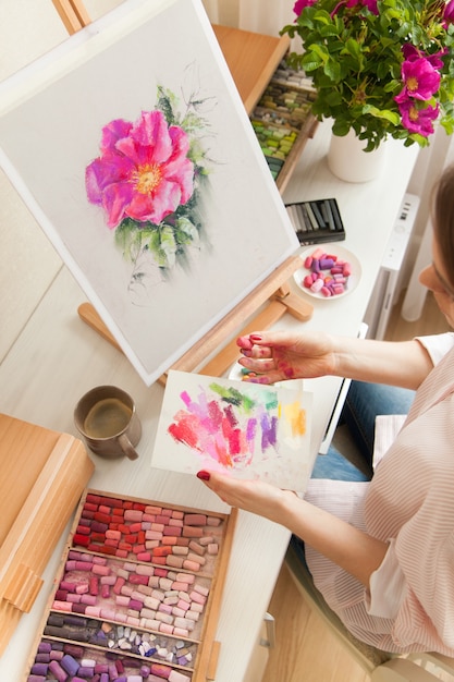
[{"label": "small paper with pink, green, purple and yellow swatches, held by woman", "polygon": [[201,468],[304,490],[311,394],[302,381],[248,383],[170,370],[151,464]]}]

